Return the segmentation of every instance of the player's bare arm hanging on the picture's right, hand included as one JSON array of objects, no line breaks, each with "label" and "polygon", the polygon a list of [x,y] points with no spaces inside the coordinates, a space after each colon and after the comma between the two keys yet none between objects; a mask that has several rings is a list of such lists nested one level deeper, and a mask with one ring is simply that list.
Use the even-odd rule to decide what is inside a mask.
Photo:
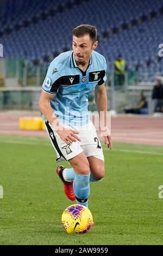
[{"label": "player's bare arm hanging on the picture's right, hand included", "polygon": [[108,145],[109,149],[112,149],[111,135],[107,125],[107,94],[104,84],[95,87],[95,102],[98,108],[100,128],[105,144]]}]

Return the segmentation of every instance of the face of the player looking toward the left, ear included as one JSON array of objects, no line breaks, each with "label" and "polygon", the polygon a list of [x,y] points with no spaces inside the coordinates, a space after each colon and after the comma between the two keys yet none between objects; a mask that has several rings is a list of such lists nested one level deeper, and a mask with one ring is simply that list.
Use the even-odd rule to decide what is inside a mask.
[{"label": "face of the player looking toward the left, ear included", "polygon": [[84,35],[80,38],[73,35],[72,49],[77,63],[86,63],[89,60],[92,51],[96,49],[97,44],[97,41],[94,43],[92,42],[89,35]]}]

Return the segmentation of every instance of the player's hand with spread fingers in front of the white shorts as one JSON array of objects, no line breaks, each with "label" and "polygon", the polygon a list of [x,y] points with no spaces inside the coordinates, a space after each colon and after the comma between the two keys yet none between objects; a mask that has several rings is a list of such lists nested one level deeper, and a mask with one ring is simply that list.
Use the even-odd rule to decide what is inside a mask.
[{"label": "player's hand with spread fingers in front of the white shorts", "polygon": [[79,132],[66,129],[62,126],[62,129],[58,129],[57,133],[59,137],[62,139],[62,141],[66,142],[68,145],[71,145],[73,142],[76,142],[77,140],[81,142],[80,138],[77,136]]}]

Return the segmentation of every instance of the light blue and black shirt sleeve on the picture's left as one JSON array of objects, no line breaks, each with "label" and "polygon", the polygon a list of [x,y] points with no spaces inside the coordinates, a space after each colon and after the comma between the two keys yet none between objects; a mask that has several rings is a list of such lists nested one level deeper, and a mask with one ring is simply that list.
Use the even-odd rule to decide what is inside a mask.
[{"label": "light blue and black shirt sleeve on the picture's left", "polygon": [[59,71],[57,67],[55,68],[55,65],[52,65],[51,63],[47,70],[45,80],[43,81],[42,90],[48,94],[55,95],[57,94],[59,87]]}]

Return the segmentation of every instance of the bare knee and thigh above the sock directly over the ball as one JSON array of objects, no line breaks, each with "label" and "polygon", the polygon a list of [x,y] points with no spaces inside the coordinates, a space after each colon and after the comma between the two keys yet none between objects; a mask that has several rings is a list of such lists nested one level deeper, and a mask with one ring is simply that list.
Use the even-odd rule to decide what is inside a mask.
[{"label": "bare knee and thigh above the sock directly over the ball", "polygon": [[74,171],[80,175],[90,174],[90,165],[85,154],[82,152],[77,156],[74,156],[72,159],[68,160]]}]

